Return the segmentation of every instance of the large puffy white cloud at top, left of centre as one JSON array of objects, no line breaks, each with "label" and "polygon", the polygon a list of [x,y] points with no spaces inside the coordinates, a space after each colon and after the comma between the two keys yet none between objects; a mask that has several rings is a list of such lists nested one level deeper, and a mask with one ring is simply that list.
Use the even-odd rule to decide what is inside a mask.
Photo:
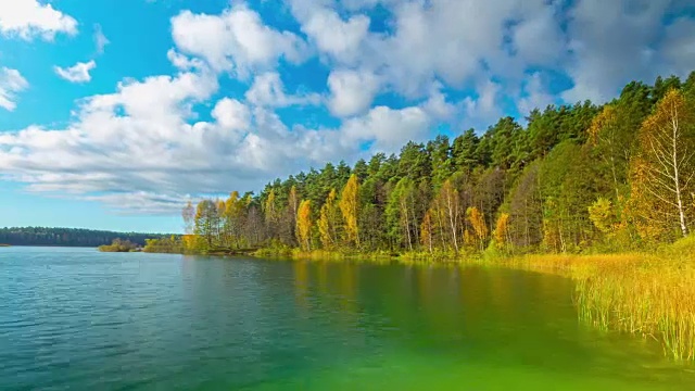
[{"label": "large puffy white cloud at top, left of centre", "polygon": [[172,34],[179,51],[204,59],[216,71],[233,71],[240,77],[249,76],[252,70],[269,68],[280,58],[299,63],[306,51],[300,37],[268,27],[244,3],[232,5],[220,15],[184,11],[172,20]]}]

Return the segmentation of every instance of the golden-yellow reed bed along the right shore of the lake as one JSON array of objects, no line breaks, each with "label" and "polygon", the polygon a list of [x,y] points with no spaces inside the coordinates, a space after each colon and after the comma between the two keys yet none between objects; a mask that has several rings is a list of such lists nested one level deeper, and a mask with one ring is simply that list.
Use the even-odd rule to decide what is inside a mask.
[{"label": "golden-yellow reed bed along the right shore of the lake", "polygon": [[667,355],[695,361],[695,241],[655,254],[531,255],[500,262],[576,279],[582,319],[654,338]]}]

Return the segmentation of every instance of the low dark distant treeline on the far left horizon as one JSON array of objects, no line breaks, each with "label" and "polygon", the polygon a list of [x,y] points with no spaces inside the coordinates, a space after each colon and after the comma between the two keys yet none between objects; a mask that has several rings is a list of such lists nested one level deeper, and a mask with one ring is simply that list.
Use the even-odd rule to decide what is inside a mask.
[{"label": "low dark distant treeline on the far left horizon", "polygon": [[0,228],[0,243],[12,245],[99,247],[115,239],[144,245],[147,239],[163,238],[164,235],[113,232],[80,228]]}]

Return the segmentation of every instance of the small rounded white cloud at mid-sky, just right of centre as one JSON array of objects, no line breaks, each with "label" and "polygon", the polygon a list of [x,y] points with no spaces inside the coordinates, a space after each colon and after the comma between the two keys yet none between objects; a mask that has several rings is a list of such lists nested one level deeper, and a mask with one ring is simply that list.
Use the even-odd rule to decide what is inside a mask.
[{"label": "small rounded white cloud at mid-sky, just right of centre", "polygon": [[328,108],[344,117],[364,113],[379,91],[379,79],[369,72],[333,71],[328,76],[331,91]]}]

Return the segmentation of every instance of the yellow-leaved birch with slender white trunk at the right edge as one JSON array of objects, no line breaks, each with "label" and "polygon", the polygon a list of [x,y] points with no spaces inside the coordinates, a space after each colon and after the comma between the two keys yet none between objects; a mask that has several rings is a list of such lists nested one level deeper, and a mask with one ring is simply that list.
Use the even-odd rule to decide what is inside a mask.
[{"label": "yellow-leaved birch with slender white trunk at the right edge", "polygon": [[[639,212],[648,224],[664,230],[677,226],[688,234],[688,210],[695,167],[694,115],[685,97],[670,90],[640,129],[640,153],[632,164],[633,197],[641,197]],[[635,187],[636,185],[636,187]],[[655,210],[660,213],[655,214]]]}]

